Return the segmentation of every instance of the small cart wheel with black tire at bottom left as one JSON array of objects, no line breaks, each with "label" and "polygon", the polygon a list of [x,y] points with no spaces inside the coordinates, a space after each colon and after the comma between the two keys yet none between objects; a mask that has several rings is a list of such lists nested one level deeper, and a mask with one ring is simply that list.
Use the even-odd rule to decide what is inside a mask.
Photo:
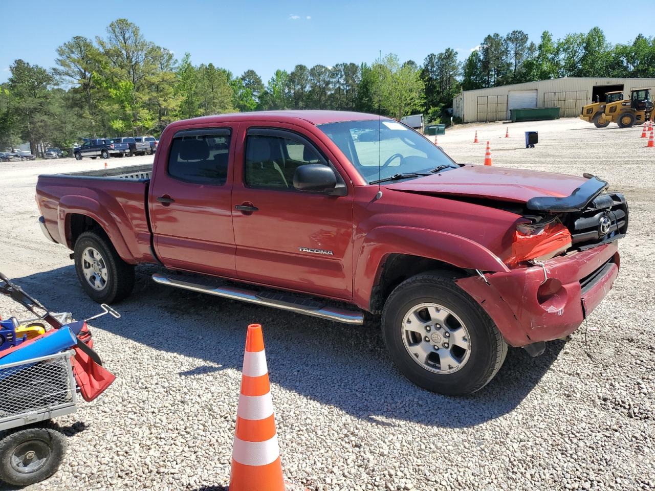
[{"label": "small cart wheel with black tire at bottom left", "polygon": [[30,427],[0,440],[0,481],[28,486],[56,473],[66,452],[66,437],[50,427]]}]

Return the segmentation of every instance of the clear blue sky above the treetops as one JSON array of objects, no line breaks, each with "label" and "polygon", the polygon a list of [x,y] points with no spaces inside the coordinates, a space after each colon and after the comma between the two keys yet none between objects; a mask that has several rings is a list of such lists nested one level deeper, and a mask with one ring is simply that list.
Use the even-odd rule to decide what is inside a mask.
[{"label": "clear blue sky above the treetops", "polygon": [[451,47],[463,60],[487,33],[513,29],[537,43],[544,29],[557,38],[598,25],[611,43],[631,41],[637,31],[600,14],[612,10],[610,1],[0,0],[0,82],[13,60],[52,67],[57,46],[73,35],[104,36],[120,17],[178,58],[189,52],[194,64],[235,75],[252,68],[266,82],[278,68],[372,62],[379,50],[421,64]]}]

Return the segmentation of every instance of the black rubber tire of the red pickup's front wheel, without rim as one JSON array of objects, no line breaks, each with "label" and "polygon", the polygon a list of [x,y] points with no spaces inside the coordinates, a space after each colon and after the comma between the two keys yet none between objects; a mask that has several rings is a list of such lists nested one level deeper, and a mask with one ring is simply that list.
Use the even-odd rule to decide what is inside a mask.
[{"label": "black rubber tire of the red pickup's front wheel, without rim", "polygon": [[[505,361],[508,345],[487,313],[454,280],[453,274],[430,272],[400,283],[384,304],[383,337],[394,363],[411,382],[436,393],[468,395],[494,378]],[[468,330],[468,359],[452,373],[430,371],[409,353],[403,342],[405,315],[414,306],[430,302],[455,314]],[[451,346],[451,350],[454,349]]]}]

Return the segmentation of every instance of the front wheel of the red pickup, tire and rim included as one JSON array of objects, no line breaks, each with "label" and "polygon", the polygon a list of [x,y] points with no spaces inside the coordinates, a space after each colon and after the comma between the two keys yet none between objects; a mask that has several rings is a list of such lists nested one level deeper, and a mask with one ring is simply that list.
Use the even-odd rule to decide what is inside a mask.
[{"label": "front wheel of the red pickup, tire and rim included", "polygon": [[418,274],[389,295],[383,336],[411,382],[446,395],[468,395],[498,373],[508,345],[491,318],[446,272]]}]

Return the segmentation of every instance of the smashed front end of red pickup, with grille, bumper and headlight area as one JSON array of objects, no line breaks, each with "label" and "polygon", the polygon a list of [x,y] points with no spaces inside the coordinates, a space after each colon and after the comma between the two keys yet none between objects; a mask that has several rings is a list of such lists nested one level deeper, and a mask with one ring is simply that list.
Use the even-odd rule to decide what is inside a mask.
[{"label": "smashed front end of red pickup, with grille, bumper and headlight area", "polygon": [[[532,198],[525,204],[507,272],[458,280],[481,304],[512,346],[532,355],[567,336],[603,300],[619,268],[618,239],[627,231],[622,194],[603,193],[594,176],[570,196]],[[601,194],[603,193],[603,194]]]}]

